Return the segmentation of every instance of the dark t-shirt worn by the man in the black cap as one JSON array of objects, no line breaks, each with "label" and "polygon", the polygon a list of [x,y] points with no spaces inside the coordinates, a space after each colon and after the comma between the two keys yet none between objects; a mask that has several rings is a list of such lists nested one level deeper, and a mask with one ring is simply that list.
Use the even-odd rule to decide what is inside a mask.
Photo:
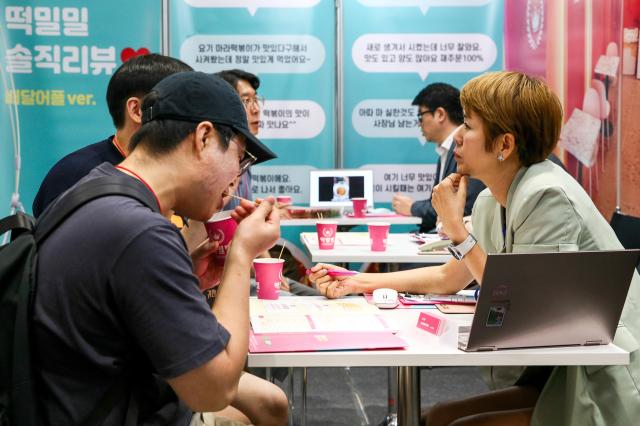
[{"label": "dark t-shirt worn by the man in the black cap", "polygon": [[[104,163],[86,179],[120,173]],[[177,228],[132,198],[88,203],[39,249],[34,355],[49,424],[82,422],[124,377],[138,424],[188,425],[191,411],[165,379],[205,364],[229,337]],[[124,424],[128,403],[104,424]]]}]

